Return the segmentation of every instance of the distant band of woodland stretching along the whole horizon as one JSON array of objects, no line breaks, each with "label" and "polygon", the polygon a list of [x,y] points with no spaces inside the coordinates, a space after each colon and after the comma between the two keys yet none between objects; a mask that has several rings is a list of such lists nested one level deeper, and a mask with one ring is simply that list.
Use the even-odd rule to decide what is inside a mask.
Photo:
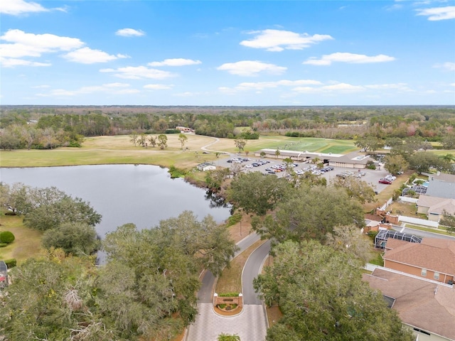
[{"label": "distant band of woodland stretching along the whole horizon", "polygon": [[409,107],[41,107],[0,109],[1,148],[80,146],[85,136],[163,134],[186,126],[196,134],[250,134],[358,139],[359,136],[441,141],[454,134],[454,106]]}]

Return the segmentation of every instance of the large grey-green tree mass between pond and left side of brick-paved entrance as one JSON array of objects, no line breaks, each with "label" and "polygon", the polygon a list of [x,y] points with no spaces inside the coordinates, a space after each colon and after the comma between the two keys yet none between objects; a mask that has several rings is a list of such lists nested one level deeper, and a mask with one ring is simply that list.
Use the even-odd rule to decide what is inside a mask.
[{"label": "large grey-green tree mass between pond and left side of brick-paved entrance", "polygon": [[202,269],[217,276],[237,247],[228,230],[192,212],[162,220],[153,229],[125,224],[107,234],[107,266],[97,304],[128,335],[169,340],[196,318]]}]

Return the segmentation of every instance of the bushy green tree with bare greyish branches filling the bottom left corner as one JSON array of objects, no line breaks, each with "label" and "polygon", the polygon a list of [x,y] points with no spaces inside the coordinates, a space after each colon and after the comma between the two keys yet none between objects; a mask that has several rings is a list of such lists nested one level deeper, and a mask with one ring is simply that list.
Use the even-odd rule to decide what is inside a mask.
[{"label": "bushy green tree with bare greyish branches filling the bottom left corner", "polygon": [[94,308],[93,259],[52,250],[11,269],[10,276],[0,302],[7,340],[123,340]]}]

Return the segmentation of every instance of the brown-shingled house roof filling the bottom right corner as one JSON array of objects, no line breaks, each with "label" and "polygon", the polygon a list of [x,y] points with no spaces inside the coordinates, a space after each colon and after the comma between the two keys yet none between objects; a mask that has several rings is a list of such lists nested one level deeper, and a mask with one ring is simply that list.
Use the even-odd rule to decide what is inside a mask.
[{"label": "brown-shingled house roof filling the bottom right corner", "polygon": [[454,286],[383,268],[363,274],[363,280],[381,291],[416,340],[455,340]]}]

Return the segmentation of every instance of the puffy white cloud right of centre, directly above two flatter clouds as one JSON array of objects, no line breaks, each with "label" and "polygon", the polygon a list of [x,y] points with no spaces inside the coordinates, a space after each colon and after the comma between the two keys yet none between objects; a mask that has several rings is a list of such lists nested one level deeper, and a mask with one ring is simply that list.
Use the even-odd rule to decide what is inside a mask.
[{"label": "puffy white cloud right of centre, directly above two flatter clouds", "polygon": [[309,36],[308,33],[295,33],[291,31],[280,30],[264,30],[253,31],[250,34],[255,34],[255,38],[251,40],[243,40],[240,45],[248,48],[264,48],[267,51],[282,51],[282,50],[302,50],[310,45],[319,43],[323,40],[333,39],[326,34],[315,34]]}]

